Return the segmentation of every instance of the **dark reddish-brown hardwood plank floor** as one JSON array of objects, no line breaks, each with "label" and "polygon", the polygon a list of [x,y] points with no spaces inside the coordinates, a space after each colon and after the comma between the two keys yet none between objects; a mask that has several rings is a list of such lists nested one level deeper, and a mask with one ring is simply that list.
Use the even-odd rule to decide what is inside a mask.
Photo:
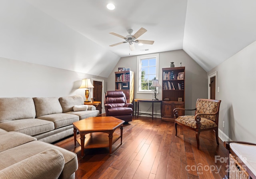
[{"label": "dark reddish-brown hardwood plank floor", "polygon": [[114,143],[112,156],[108,148],[100,148],[85,149],[82,158],[72,136],[54,145],[77,154],[76,179],[222,179],[228,165],[222,158],[228,150],[221,140],[216,144],[214,131],[200,134],[198,150],[195,131],[178,125],[175,136],[174,123],[152,117],[124,124],[123,143]]}]

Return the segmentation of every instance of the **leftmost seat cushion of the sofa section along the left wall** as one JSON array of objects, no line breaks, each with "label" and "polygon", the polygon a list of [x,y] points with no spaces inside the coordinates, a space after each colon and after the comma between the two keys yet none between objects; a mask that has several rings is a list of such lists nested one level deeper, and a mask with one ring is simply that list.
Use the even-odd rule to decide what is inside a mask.
[{"label": "leftmost seat cushion of the sofa section along the left wall", "polygon": [[42,119],[18,119],[0,123],[6,131],[16,131],[27,135],[37,135],[54,129],[54,123]]}]

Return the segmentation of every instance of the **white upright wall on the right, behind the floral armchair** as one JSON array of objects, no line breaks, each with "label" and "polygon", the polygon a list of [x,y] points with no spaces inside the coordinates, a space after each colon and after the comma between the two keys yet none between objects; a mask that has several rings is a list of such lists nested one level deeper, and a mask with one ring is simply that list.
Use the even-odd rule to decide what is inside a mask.
[{"label": "white upright wall on the right, behind the floral armchair", "polygon": [[[221,99],[219,129],[224,140],[256,143],[256,41],[208,72],[217,71]],[[225,127],[222,127],[225,121]],[[223,132],[223,133],[222,133]]]}]

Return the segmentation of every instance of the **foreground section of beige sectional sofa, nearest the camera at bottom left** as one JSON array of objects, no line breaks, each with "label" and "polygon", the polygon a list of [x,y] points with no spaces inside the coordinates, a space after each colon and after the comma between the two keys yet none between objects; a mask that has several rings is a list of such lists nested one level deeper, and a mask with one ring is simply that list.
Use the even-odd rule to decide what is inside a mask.
[{"label": "foreground section of beige sectional sofa, nearest the camera at bottom left", "polygon": [[0,179],[74,179],[76,153],[0,129]]}]

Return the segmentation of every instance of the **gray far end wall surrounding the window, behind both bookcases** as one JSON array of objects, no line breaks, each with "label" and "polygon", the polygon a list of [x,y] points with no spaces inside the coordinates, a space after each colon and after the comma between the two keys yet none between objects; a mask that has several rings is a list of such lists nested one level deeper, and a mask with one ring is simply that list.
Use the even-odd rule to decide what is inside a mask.
[{"label": "gray far end wall surrounding the window, behind both bookcases", "polygon": [[[203,70],[186,52],[183,50],[175,50],[159,53],[159,82],[162,84],[162,68],[168,68],[170,62],[174,62],[176,67],[185,66],[185,107],[192,109],[195,108],[196,99],[208,98],[208,78],[207,73]],[[145,94],[137,93],[137,56],[121,58],[114,70],[108,77],[108,90],[115,90],[115,74],[118,68],[130,68],[134,72],[134,98],[138,99],[153,99],[154,93]],[[158,99],[162,99],[162,88],[159,88],[157,94]],[[160,114],[160,104],[154,105],[155,113]],[[151,103],[144,103],[140,106],[140,111],[150,112],[152,111]],[[194,112],[187,112],[186,114],[192,114]]]}]

